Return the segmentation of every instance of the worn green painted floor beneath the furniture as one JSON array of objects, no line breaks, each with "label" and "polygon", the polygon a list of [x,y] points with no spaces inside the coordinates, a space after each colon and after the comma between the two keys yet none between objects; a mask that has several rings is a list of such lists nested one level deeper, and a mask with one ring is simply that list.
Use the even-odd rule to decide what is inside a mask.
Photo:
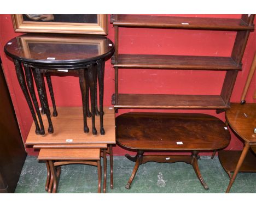
[{"label": "worn green painted floor beneath the furniture", "polygon": [[[199,168],[208,190],[203,189],[193,167],[183,162],[142,164],[131,189],[126,189],[133,166],[124,156],[114,157],[114,189],[110,189],[108,166],[107,193],[224,193],[229,183],[218,157],[211,160],[202,156]],[[45,163],[27,156],[15,193],[46,193],[45,179]],[[58,193],[97,193],[97,168],[80,164],[63,166]],[[256,193],[256,173],[239,173],[230,193]]]}]

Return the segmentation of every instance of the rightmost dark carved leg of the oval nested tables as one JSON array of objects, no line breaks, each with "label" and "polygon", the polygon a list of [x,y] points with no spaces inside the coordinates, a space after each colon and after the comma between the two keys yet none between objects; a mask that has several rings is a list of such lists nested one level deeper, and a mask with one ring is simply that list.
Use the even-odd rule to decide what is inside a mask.
[{"label": "rightmost dark carved leg of the oval nested tables", "polygon": [[[103,94],[104,94],[104,61],[97,60],[97,74],[98,74],[98,88],[100,94],[100,123],[101,123],[101,135],[105,134],[103,127]],[[96,81],[97,82],[97,81]]]}]

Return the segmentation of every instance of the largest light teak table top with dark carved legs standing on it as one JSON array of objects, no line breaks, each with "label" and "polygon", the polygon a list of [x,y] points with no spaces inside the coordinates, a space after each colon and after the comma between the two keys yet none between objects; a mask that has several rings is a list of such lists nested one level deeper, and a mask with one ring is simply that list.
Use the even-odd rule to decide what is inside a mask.
[{"label": "largest light teak table top with dark carved legs standing on it", "polygon": [[[115,144],[115,113],[113,108],[104,107],[105,135],[92,135],[92,132],[84,133],[82,107],[57,107],[58,116],[51,117],[54,125],[54,133],[37,135],[34,123],[31,126],[26,144]],[[44,125],[48,124],[46,116],[42,115]],[[91,118],[87,118],[88,127],[91,130]],[[95,117],[96,128],[100,127],[100,117]],[[45,126],[47,127],[47,126]],[[72,139],[72,142],[67,142]]]}]

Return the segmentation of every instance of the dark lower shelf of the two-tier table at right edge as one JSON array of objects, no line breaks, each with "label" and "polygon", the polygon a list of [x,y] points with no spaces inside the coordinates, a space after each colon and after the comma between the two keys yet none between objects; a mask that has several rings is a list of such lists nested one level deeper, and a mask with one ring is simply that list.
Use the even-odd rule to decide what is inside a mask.
[{"label": "dark lower shelf of the two-tier table at right edge", "polygon": [[[223,150],[218,152],[219,161],[226,172],[234,172],[242,151]],[[256,172],[256,156],[248,151],[239,172]]]}]

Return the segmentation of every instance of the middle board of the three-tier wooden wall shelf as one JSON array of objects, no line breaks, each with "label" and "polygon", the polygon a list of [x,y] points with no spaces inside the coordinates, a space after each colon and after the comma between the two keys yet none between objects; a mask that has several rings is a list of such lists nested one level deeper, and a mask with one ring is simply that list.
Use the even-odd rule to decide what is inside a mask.
[{"label": "middle board of the three-tier wooden wall shelf", "polygon": [[241,70],[231,57],[119,54],[114,67],[147,69]]}]

